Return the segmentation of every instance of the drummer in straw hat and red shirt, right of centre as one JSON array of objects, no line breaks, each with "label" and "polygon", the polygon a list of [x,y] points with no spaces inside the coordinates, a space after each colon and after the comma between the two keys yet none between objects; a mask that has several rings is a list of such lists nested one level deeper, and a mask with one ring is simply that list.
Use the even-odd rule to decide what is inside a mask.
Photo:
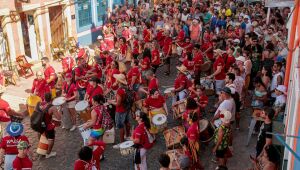
[{"label": "drummer in straw hat and red shirt, right of centre", "polygon": [[[187,96],[187,84],[188,84],[188,79],[187,79],[187,68],[184,65],[181,65],[180,67],[176,67],[178,70],[178,76],[175,79],[174,82],[174,92],[178,95],[179,101],[183,100]],[[177,96],[176,95],[176,96]],[[178,99],[173,98],[173,103],[175,103]]]}]

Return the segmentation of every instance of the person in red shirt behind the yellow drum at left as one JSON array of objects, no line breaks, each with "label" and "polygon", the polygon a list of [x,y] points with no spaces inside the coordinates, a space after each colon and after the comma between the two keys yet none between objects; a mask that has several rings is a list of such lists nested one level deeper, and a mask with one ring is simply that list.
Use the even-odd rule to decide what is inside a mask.
[{"label": "person in red shirt behind the yellow drum at left", "polygon": [[43,73],[41,71],[36,72],[36,77],[37,78],[35,78],[32,83],[31,93],[44,100],[45,93],[50,92],[50,88],[47,85],[46,80],[43,78]]}]

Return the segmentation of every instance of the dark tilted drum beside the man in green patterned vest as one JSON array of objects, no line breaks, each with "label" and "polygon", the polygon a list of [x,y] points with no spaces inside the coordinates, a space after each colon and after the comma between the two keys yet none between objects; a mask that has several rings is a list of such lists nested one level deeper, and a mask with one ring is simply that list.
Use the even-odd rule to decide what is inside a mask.
[{"label": "dark tilted drum beside the man in green patterned vest", "polygon": [[206,119],[199,121],[200,127],[200,141],[203,143],[209,143],[215,133],[214,125]]}]

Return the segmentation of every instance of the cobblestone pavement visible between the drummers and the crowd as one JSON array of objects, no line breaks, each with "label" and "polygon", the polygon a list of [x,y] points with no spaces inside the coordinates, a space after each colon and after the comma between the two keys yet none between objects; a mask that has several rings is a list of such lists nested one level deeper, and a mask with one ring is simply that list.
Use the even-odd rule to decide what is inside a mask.
[{"label": "cobblestone pavement visible between the drummers and the crowd", "polygon": [[[60,71],[60,64],[54,62],[52,64],[56,71]],[[161,86],[172,86],[173,81],[176,77],[177,71],[175,70],[175,62],[172,61],[172,74],[167,77],[163,75],[164,68],[161,67],[158,70],[157,76],[160,81]],[[36,70],[40,67],[36,67]],[[20,110],[25,104],[26,98],[29,95],[26,93],[27,89],[31,88],[33,77],[29,79],[21,79],[20,87],[9,86],[7,92],[4,94],[4,98],[10,103],[10,105],[16,109]],[[212,104],[214,99],[210,99]],[[22,105],[23,104],[23,105]],[[168,101],[170,106],[170,101]],[[207,117],[211,117],[212,114],[207,114]],[[243,110],[241,114],[241,129],[239,131],[234,130],[234,156],[228,161],[228,168],[230,170],[244,170],[248,169],[251,166],[249,161],[249,154],[255,153],[255,139],[252,137],[252,140],[248,147],[245,146],[247,133],[248,133],[248,124],[250,120],[249,110]],[[34,164],[34,170],[72,170],[74,161],[77,159],[77,152],[82,146],[82,138],[79,134],[79,131],[69,132],[61,128],[57,128],[56,139],[53,150],[57,152],[57,156],[50,159],[45,159],[36,154],[36,147],[38,144],[37,134],[33,132],[30,127],[29,118],[23,120],[25,125],[25,134],[29,137],[29,140],[32,144],[31,153]],[[168,117],[168,127],[173,127],[178,125],[177,121],[174,121],[169,115]],[[78,124],[79,125],[79,124]],[[118,134],[118,131],[116,131]],[[118,141],[118,135],[116,135],[116,141]],[[216,167],[211,159],[213,158],[211,150],[213,143],[209,145],[201,145],[201,161],[205,169],[213,170]],[[159,169],[159,163],[157,161],[158,155],[165,152],[166,146],[164,137],[162,134],[157,136],[157,143],[155,146],[147,152],[147,162],[148,169],[157,170]],[[105,150],[106,159],[101,162],[101,169],[103,170],[132,170],[133,169],[133,160],[132,156],[121,156],[119,150],[112,149],[112,145],[107,145]]]}]

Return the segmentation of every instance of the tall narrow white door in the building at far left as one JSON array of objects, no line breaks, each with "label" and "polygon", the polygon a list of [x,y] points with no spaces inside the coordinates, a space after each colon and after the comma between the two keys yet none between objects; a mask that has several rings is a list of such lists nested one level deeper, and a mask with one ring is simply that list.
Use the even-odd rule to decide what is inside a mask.
[{"label": "tall narrow white door in the building at far left", "polygon": [[38,60],[39,56],[38,56],[33,15],[27,15],[27,23],[28,23],[27,26],[28,26],[29,46],[30,46],[29,57],[31,57],[32,60]]}]

